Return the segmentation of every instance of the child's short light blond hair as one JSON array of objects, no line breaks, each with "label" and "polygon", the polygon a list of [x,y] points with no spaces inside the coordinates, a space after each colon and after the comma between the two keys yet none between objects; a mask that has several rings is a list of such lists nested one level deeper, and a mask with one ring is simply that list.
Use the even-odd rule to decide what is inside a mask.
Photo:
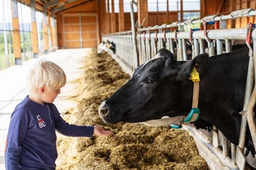
[{"label": "child's short light blond hair", "polygon": [[38,88],[44,86],[47,90],[60,89],[66,85],[65,72],[54,62],[40,60],[32,67],[27,77],[27,88],[30,93],[35,93]]}]

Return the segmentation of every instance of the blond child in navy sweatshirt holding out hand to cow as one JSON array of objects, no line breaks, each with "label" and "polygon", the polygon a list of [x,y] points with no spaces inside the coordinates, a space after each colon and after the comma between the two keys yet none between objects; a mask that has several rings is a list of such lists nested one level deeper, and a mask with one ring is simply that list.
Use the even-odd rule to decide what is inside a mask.
[{"label": "blond child in navy sweatshirt holding out hand to cow", "polygon": [[66,75],[50,61],[32,68],[27,95],[11,116],[6,138],[5,167],[14,169],[56,169],[56,131],[65,136],[107,136],[100,126],[76,126],[61,118],[53,101],[66,84]]}]

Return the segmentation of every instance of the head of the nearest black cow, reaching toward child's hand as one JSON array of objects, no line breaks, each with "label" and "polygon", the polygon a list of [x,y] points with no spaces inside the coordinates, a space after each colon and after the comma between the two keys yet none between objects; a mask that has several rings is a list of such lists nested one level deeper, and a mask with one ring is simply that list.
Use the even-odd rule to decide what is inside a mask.
[{"label": "head of the nearest black cow, reaching toward child's hand", "polygon": [[185,115],[192,105],[190,72],[196,67],[200,75],[203,74],[207,63],[208,55],[177,62],[169,50],[160,49],[153,59],[140,65],[131,79],[100,105],[100,116],[107,123],[136,123],[164,115]]}]

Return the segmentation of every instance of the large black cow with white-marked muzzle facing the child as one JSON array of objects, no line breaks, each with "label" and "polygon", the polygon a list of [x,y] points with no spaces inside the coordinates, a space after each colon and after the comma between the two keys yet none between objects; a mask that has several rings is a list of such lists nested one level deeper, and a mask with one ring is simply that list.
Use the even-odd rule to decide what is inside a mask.
[{"label": "large black cow with white-marked muzzle facing the child", "polygon": [[[200,75],[200,117],[195,121],[195,127],[216,126],[237,146],[248,54],[248,47],[244,47],[214,57],[202,54],[183,62],[176,61],[169,50],[160,49],[153,59],[140,65],[131,79],[100,105],[100,116],[106,123],[138,123],[164,116],[186,116],[193,102],[190,72],[195,67]],[[246,156],[255,158],[249,129],[245,147]],[[251,165],[256,168],[256,159]]]}]

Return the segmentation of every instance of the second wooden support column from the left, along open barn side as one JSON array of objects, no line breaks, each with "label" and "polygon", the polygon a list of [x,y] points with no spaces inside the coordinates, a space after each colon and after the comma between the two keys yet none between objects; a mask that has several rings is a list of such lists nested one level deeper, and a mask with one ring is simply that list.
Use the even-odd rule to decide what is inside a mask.
[{"label": "second wooden support column from the left, along open barn side", "polygon": [[32,50],[34,58],[38,58],[37,20],[35,14],[35,0],[31,1],[31,24],[32,24]]}]

